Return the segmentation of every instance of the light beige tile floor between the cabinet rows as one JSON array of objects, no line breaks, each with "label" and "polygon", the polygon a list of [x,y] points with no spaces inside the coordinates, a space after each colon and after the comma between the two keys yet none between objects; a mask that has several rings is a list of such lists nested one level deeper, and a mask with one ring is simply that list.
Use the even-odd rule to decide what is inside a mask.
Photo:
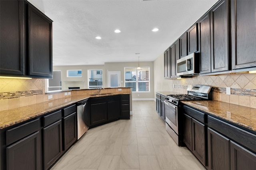
[{"label": "light beige tile floor between the cabinet rows", "polygon": [[133,101],[130,120],[89,129],[51,170],[205,170],[165,130],[154,101]]}]

